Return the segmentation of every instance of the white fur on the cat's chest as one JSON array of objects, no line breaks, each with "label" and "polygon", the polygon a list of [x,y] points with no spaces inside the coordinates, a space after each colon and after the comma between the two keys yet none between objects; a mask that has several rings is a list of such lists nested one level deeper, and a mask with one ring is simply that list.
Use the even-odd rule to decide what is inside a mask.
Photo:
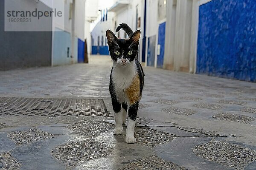
[{"label": "white fur on the cat's chest", "polygon": [[112,80],[115,87],[116,97],[119,102],[128,102],[125,90],[130,87],[136,74],[136,65],[134,61],[125,68],[120,65],[113,65]]}]

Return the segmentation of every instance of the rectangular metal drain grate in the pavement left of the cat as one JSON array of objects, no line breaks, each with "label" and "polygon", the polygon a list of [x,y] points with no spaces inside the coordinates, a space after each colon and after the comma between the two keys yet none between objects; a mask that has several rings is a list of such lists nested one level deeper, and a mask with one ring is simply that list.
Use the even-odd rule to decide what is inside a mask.
[{"label": "rectangular metal drain grate in the pavement left of the cat", "polygon": [[44,99],[0,97],[3,116],[107,116],[102,99]]}]

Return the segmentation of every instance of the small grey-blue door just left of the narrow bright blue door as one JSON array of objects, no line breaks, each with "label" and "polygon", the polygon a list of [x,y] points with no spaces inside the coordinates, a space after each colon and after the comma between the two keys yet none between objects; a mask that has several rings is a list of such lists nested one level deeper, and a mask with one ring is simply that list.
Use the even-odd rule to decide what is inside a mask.
[{"label": "small grey-blue door just left of the narrow bright blue door", "polygon": [[148,37],[148,55],[147,55],[147,65],[154,67],[154,57],[156,49],[156,35]]}]

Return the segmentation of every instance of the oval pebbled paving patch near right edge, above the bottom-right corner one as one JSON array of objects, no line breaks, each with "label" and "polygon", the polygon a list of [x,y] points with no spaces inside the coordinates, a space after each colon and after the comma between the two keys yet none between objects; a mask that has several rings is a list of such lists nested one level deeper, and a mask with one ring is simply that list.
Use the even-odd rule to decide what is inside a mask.
[{"label": "oval pebbled paving patch near right edge, above the bottom-right corner one", "polygon": [[240,123],[250,123],[253,122],[255,119],[250,116],[245,116],[241,114],[234,114],[234,113],[218,113],[212,116],[215,119],[225,120],[228,122],[240,122]]}]

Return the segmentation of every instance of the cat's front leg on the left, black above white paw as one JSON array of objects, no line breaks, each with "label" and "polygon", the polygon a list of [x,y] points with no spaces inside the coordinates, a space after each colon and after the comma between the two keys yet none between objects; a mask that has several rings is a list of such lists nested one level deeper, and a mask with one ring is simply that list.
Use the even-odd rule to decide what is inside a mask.
[{"label": "cat's front leg on the left, black above white paw", "polygon": [[121,112],[121,103],[118,102],[116,98],[112,98],[112,106],[115,116],[115,122],[116,122],[116,128],[114,129],[113,133],[114,135],[121,135],[122,134],[122,112]]}]

